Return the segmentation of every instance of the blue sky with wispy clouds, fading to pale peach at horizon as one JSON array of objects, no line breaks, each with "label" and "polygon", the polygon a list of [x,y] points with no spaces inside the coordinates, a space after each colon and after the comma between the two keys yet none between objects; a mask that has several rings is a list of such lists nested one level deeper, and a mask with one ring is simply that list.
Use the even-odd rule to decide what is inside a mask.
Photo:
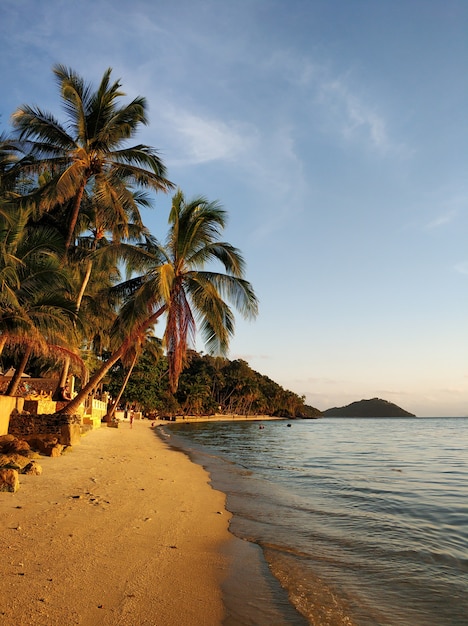
[{"label": "blue sky with wispy clouds, fading to pale peach at horizon", "polygon": [[137,141],[228,212],[260,301],[229,358],[320,410],[466,416],[467,33],[466,0],[1,0],[0,132],[65,119],[54,64],[111,67]]}]

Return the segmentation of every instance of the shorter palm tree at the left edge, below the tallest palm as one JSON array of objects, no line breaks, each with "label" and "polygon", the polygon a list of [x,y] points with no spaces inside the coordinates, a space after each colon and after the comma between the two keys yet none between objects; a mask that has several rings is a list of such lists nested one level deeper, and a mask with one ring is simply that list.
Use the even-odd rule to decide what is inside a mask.
[{"label": "shorter palm tree at the left edge, below the tallest palm", "polygon": [[71,356],[76,345],[69,276],[59,261],[63,238],[28,219],[28,211],[13,206],[0,215],[0,346],[21,353],[7,395],[14,395],[31,353]]}]

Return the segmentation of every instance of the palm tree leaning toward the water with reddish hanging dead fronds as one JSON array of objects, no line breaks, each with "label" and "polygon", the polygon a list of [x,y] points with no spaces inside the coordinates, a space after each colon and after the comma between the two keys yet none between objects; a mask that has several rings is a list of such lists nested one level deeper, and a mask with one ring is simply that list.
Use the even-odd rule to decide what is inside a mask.
[{"label": "palm tree leaning toward the water with reddish hanging dead fronds", "polygon": [[[116,288],[127,296],[114,325],[119,347],[61,412],[75,412],[135,340],[162,315],[166,316],[164,347],[171,391],[177,389],[187,347],[195,338],[196,322],[209,352],[227,352],[234,315],[226,300],[246,318],[255,317],[258,302],[252,286],[243,278],[245,264],[240,251],[219,240],[225,223],[226,213],[218,203],[203,197],[186,202],[181,191],[175,194],[165,245],[148,237],[138,250],[143,273]],[[220,262],[225,273],[207,269],[214,262]]]}]

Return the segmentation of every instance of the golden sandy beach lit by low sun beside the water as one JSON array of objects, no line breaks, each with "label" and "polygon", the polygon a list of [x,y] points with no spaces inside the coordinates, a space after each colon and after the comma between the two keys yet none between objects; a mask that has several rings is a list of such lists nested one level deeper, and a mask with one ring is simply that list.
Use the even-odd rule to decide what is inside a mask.
[{"label": "golden sandy beach lit by low sun beside the water", "polygon": [[219,626],[224,494],[147,420],[101,428],[0,493],[2,626]]}]

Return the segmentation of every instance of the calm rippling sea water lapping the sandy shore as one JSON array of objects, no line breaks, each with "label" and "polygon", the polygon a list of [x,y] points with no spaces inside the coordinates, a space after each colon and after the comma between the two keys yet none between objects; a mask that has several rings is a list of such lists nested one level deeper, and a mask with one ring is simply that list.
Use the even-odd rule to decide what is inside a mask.
[{"label": "calm rippling sea water lapping the sandy shore", "polygon": [[233,513],[225,626],[468,625],[468,418],[167,432]]}]

